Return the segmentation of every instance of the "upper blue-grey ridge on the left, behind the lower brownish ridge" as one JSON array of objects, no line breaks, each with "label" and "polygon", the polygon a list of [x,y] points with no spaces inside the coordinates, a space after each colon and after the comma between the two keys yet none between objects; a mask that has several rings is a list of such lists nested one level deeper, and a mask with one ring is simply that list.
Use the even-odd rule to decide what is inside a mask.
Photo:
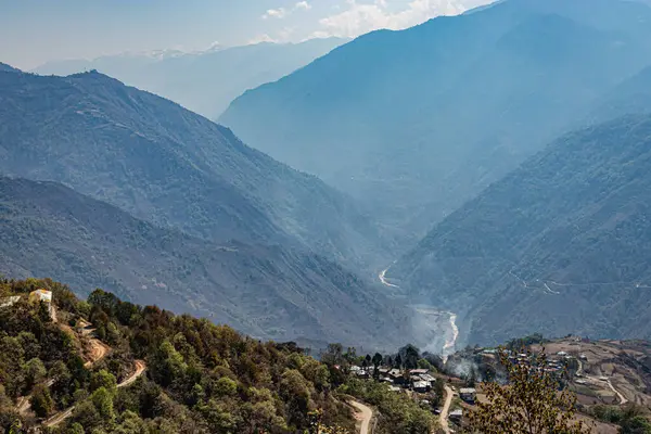
[{"label": "upper blue-grey ridge on the left, behind the lower brownish ridge", "polygon": [[0,73],[0,173],[54,180],[209,240],[379,260],[369,216],[319,179],[179,105],[91,72]]}]

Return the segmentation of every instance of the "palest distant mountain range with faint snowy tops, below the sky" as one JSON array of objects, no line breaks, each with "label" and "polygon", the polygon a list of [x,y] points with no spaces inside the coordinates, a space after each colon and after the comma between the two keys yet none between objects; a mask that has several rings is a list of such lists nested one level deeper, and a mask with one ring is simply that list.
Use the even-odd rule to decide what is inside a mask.
[{"label": "palest distant mountain range with faint snowy tops, below the sky", "polygon": [[190,54],[113,55],[92,61],[49,62],[34,72],[69,75],[98,69],[216,119],[245,90],[278,80],[344,42],[329,38],[302,43],[264,42]]}]

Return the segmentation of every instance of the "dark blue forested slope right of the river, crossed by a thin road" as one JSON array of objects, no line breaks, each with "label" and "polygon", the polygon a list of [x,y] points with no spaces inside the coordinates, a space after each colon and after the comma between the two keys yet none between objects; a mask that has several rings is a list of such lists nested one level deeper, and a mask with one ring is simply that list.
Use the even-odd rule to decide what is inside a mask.
[{"label": "dark blue forested slope right of the river, crossed by a thin road", "polygon": [[571,133],[451,214],[386,278],[468,342],[651,336],[651,118]]}]

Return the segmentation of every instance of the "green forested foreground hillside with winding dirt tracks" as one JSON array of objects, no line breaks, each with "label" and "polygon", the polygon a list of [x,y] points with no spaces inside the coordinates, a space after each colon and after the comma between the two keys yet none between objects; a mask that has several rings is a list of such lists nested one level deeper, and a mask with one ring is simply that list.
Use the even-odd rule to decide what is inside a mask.
[{"label": "green forested foreground hillside with winding dirt tracks", "polygon": [[[30,301],[38,289],[52,292],[52,310]],[[335,359],[102,290],[80,301],[49,279],[0,280],[0,306],[2,432],[352,433],[352,395],[386,409],[379,433],[433,423]]]}]

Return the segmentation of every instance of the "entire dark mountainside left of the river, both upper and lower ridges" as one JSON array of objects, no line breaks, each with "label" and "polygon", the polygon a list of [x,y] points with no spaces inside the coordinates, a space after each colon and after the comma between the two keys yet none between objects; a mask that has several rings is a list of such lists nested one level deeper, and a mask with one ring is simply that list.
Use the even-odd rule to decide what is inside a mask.
[{"label": "entire dark mountainside left of the river, both upper and lower ridges", "polygon": [[384,344],[407,323],[363,278],[384,260],[372,218],[229,129],[97,72],[0,72],[0,118],[8,276],[267,339]]}]

